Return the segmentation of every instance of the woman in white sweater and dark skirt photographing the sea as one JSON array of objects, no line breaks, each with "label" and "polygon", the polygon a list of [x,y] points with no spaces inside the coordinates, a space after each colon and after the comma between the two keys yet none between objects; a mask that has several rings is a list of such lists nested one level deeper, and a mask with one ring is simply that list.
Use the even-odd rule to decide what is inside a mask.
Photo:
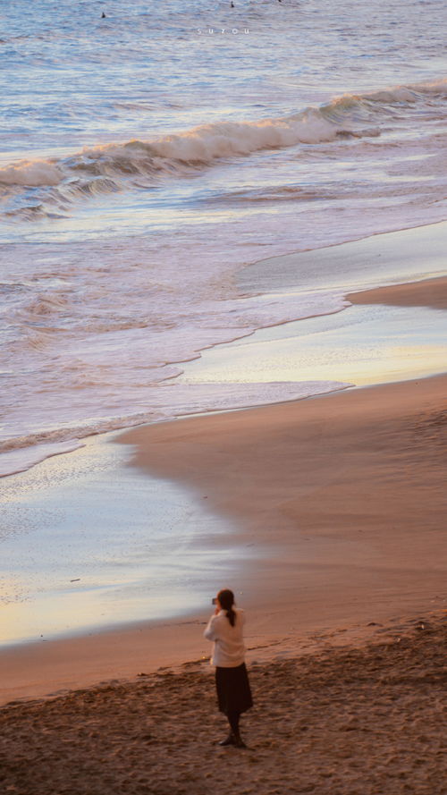
[{"label": "woman in white sweater and dark skirt photographing the sea", "polygon": [[243,610],[234,606],[234,594],[228,588],[219,591],[215,602],[215,613],[204,632],[208,640],[214,641],[211,664],[215,665],[215,687],[219,709],[230,723],[230,734],[219,745],[247,748],[240,738],[240,715],[253,706],[249,676],[245,667],[245,646],[242,627],[245,623]]}]

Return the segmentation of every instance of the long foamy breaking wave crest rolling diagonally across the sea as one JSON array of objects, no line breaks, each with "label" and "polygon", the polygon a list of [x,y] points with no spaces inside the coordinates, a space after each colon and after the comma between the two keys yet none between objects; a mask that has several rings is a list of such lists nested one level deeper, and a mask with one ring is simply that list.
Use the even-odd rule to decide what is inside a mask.
[{"label": "long foamy breaking wave crest rolling diagonally across the sea", "polygon": [[[397,86],[363,95],[345,94],[320,107],[297,114],[254,122],[220,121],[156,140],[130,140],[84,148],[61,159],[22,161],[0,169],[0,192],[13,198],[6,216],[35,220],[57,217],[54,207],[66,209],[73,202],[97,194],[132,188],[156,187],[164,177],[188,176],[218,161],[249,156],[263,149],[299,144],[330,143],[340,138],[380,135],[384,120],[417,113],[445,111],[447,80]],[[21,189],[32,191],[32,201]],[[23,201],[21,201],[21,198]],[[53,207],[50,212],[47,206]]]}]

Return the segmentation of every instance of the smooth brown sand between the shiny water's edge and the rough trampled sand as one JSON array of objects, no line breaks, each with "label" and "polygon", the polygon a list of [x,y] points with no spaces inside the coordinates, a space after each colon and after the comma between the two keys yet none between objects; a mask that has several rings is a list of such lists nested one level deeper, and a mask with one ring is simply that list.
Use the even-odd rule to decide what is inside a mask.
[{"label": "smooth brown sand between the shiny water's edge and the rough trampled sand", "polygon": [[[139,467],[148,466],[141,456],[144,458],[151,451],[150,470],[153,473],[156,470],[163,477],[169,473],[169,477],[179,479],[183,485],[186,482],[196,499],[207,496],[207,509],[212,513],[231,515],[233,519],[237,517],[234,533],[227,540],[231,546],[236,542],[246,549],[250,560],[245,565],[243,582],[238,578],[238,582],[225,585],[235,590],[240,605],[249,613],[247,642],[252,647],[249,658],[255,655],[257,659],[268,660],[278,655],[296,655],[297,651],[308,646],[309,639],[312,643],[312,637],[315,639],[318,634],[322,638],[333,638],[340,634],[343,642],[348,639],[358,642],[370,631],[367,626],[371,622],[386,624],[393,622],[396,617],[400,622],[405,622],[419,614],[444,609],[447,604],[446,572],[442,566],[444,539],[443,530],[438,527],[443,475],[438,461],[441,450],[437,444],[434,444],[433,449],[431,436],[437,430],[433,422],[439,413],[446,386],[447,376],[434,376],[417,382],[330,393],[311,400],[261,409],[176,420],[133,429],[120,436],[120,444],[139,446],[139,459],[136,461]],[[419,410],[421,403],[424,407],[422,417]],[[349,452],[350,457],[350,467],[342,483],[332,485],[331,472],[328,469],[324,472],[321,466],[316,466],[317,461],[309,461],[306,456],[303,471],[308,472],[308,479],[299,486],[299,500],[304,503],[306,495],[308,500],[307,504],[297,505],[296,500],[291,499],[294,495],[291,484],[283,483],[281,486],[279,463],[274,461],[274,482],[281,486],[281,493],[274,495],[272,505],[268,504],[272,500],[272,492],[269,493],[266,487],[265,473],[261,473],[260,480],[250,486],[249,494],[245,493],[238,503],[238,495],[234,494],[233,487],[240,479],[240,474],[235,472],[233,475],[232,469],[234,457],[239,455],[240,450],[245,448],[252,454],[256,453],[258,463],[259,453],[254,449],[256,438],[279,431],[281,446],[276,447],[275,454],[281,452],[280,458],[283,460],[284,448],[290,452],[293,447],[291,429],[297,427],[299,416],[301,427],[306,428],[307,434],[312,436],[316,422],[327,425],[327,407],[330,407],[333,418],[337,419],[341,434],[335,434],[335,438],[337,442],[344,439],[345,451]],[[411,409],[414,411],[415,407],[416,413],[411,415]],[[399,427],[396,420],[401,418],[402,410],[406,410],[407,416],[413,418],[413,430],[410,428],[409,431],[405,422]],[[314,419],[311,419],[311,415]],[[397,501],[397,512],[393,511],[392,516],[387,516],[387,510],[390,509],[390,499],[396,503],[394,490],[397,483],[392,484],[391,494],[388,489],[387,496],[387,489],[384,489],[387,479],[381,483],[381,478],[377,480],[377,467],[371,462],[360,466],[358,459],[358,455],[361,459],[365,453],[365,438],[360,433],[362,419],[365,418],[367,423],[368,419],[371,423],[368,434],[373,455],[380,453],[382,448],[388,462],[386,478],[391,477],[389,466],[397,458],[400,458],[401,471],[405,473],[404,493]],[[379,418],[386,428],[379,428]],[[412,442],[409,444],[409,435],[411,437],[414,433],[415,422],[419,422],[418,427],[422,430],[422,438],[419,436],[417,443],[422,455],[422,485],[417,469],[413,479],[410,477],[410,470],[415,469],[412,459],[417,451]],[[310,427],[312,425],[314,431]],[[320,439],[325,438],[325,449],[328,449],[327,444],[331,444],[334,450],[333,441],[327,435],[322,436],[322,430],[316,432]],[[438,430],[443,432],[442,422]],[[211,452],[215,451],[216,436],[209,436],[213,433],[220,436],[221,442],[222,439],[226,441],[229,453],[225,457],[222,446],[217,451],[219,462],[214,486],[213,467],[215,469],[216,461],[212,465],[204,456],[205,452],[209,455],[210,449]],[[244,437],[244,433],[248,433],[249,438]],[[400,437],[403,446],[397,444]],[[391,444],[387,444],[387,438]],[[211,448],[207,446],[210,439]],[[311,441],[311,437],[307,436],[303,444],[311,444]],[[185,444],[190,445],[190,452],[196,448],[192,458],[185,456]],[[152,453],[156,445],[158,459],[155,462]],[[180,445],[177,451],[181,449],[181,455],[173,454],[173,445]],[[235,445],[236,448],[239,445],[239,450],[235,449]],[[164,452],[160,453],[162,447]],[[338,461],[341,461],[342,454],[339,451]],[[265,456],[261,457],[263,459]],[[188,469],[187,474],[179,470],[181,461]],[[240,461],[239,466],[246,469],[247,461]],[[204,467],[206,483],[202,479]],[[355,470],[358,476],[352,481]],[[371,486],[373,476],[375,480],[373,478],[374,484]],[[226,485],[223,482],[225,478]],[[268,480],[272,482],[269,476]],[[229,483],[232,484],[231,494],[228,492]],[[353,503],[352,494],[349,495],[346,489],[351,488],[356,492],[362,483],[363,491],[358,494],[357,502]],[[379,486],[380,494],[377,491]],[[322,487],[328,489],[326,497],[332,495],[331,499],[334,493],[339,492],[337,520],[342,525],[338,529],[334,527],[333,506],[330,508],[328,504],[325,511],[318,507],[325,502]],[[369,496],[365,493],[365,487]],[[426,504],[430,503],[425,537],[418,537],[417,534],[420,506],[417,514],[415,488],[419,495],[424,495]],[[313,498],[309,499],[312,495]],[[433,497],[434,502],[430,502]],[[376,507],[377,503],[381,505],[382,514],[379,518],[384,521],[384,530],[377,534],[374,521],[371,525],[371,521],[364,518],[364,526],[359,534],[352,526],[352,517],[358,518],[358,511],[365,514],[368,506]],[[400,519],[402,510],[403,517]],[[272,511],[275,519],[274,537],[268,531]],[[297,511],[307,522],[305,533],[299,533],[299,554],[296,539],[290,533],[291,522],[296,524],[297,521]],[[262,519],[260,524],[259,518]],[[402,527],[402,519],[405,527]],[[396,521],[399,523],[397,528]],[[387,537],[390,527],[392,537]],[[381,545],[384,545],[383,549]],[[216,588],[221,586],[222,583],[216,581]],[[204,607],[203,612],[196,612],[180,621],[139,622],[122,630],[105,630],[74,639],[38,645],[23,644],[4,650],[0,652],[0,681],[4,682],[0,699],[2,703],[7,703],[17,698],[41,698],[61,690],[90,687],[100,681],[128,680],[139,672],[154,672],[160,667],[171,668],[207,657],[209,650],[207,642],[202,639],[202,630],[209,617],[208,612],[207,607]]]}]

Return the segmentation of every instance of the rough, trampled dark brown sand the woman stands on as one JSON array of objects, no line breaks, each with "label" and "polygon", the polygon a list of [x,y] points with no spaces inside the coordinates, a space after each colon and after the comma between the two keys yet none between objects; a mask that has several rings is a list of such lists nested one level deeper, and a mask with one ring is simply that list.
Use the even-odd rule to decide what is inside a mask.
[{"label": "rough, trampled dark brown sand the woman stands on", "polygon": [[198,665],[4,707],[1,791],[445,795],[447,622],[385,636],[252,664],[245,750],[216,746],[226,727]]}]

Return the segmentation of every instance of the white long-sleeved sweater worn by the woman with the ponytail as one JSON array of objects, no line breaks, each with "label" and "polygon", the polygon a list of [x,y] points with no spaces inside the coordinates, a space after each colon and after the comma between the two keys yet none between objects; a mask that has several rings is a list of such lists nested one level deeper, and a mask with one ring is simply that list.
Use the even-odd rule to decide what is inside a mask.
[{"label": "white long-sleeved sweater worn by the woman with the ponytail", "polygon": [[245,659],[245,646],[242,637],[242,627],[245,624],[243,610],[233,607],[236,621],[232,627],[226,616],[226,610],[221,610],[217,615],[212,615],[207,629],[203,633],[207,640],[213,640],[213,655],[211,664],[219,668],[236,668]]}]

